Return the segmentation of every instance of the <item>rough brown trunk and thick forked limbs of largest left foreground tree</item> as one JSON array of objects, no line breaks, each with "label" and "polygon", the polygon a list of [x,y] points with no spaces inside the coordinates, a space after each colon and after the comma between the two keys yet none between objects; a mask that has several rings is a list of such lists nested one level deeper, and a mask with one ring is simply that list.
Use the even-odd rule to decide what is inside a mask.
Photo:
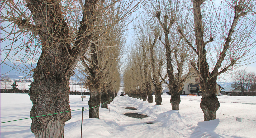
[{"label": "rough brown trunk and thick forked limbs of largest left foreground tree", "polygon": [[[29,92],[33,103],[30,117],[70,111],[69,80],[91,38],[91,35],[86,34],[95,19],[93,11],[97,0],[85,2],[78,40],[72,49],[68,42],[69,28],[62,16],[59,2],[27,0],[35,25],[30,25],[26,20],[16,22],[19,28],[24,27],[38,35],[42,47]],[[70,112],[32,118],[31,131],[36,138],[62,138],[65,122],[70,118]]]}]

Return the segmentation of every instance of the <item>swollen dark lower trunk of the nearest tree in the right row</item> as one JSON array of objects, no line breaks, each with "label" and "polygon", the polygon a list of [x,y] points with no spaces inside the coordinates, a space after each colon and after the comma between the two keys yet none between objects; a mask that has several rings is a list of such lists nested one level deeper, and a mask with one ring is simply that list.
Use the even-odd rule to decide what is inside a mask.
[{"label": "swollen dark lower trunk of the nearest tree in the right row", "polygon": [[[209,92],[208,92],[209,93]],[[212,92],[211,92],[212,93]],[[202,93],[200,107],[203,111],[203,121],[210,121],[216,119],[216,111],[220,107],[220,102],[215,93],[211,95]]]}]

